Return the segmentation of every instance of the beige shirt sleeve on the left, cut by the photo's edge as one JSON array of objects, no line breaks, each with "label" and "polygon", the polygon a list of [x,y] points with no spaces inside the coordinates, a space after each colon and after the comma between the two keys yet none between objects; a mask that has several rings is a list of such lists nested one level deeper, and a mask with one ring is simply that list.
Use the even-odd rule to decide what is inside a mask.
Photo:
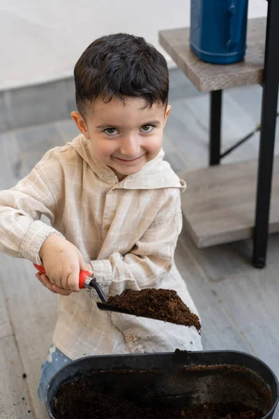
[{"label": "beige shirt sleeve on the left, cut by the photo's edge", "polygon": [[38,251],[55,228],[40,221],[44,214],[54,223],[55,199],[38,168],[7,191],[0,191],[0,251],[40,265]]}]

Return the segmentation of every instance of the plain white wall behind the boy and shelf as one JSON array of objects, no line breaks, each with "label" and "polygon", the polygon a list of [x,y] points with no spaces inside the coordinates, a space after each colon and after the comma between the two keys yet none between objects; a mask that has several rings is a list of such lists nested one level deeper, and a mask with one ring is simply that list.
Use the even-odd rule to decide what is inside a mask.
[{"label": "plain white wall behind the boy and shelf", "polygon": [[[250,0],[249,16],[266,15],[266,3]],[[165,54],[158,31],[189,23],[190,0],[0,0],[0,89],[72,75],[104,34],[144,36]]]}]

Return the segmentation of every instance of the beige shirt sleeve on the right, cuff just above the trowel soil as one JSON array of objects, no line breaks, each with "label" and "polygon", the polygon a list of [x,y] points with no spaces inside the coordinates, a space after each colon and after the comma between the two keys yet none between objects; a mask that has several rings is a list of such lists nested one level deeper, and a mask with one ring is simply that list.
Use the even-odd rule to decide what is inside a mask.
[{"label": "beige shirt sleeve on the right, cuff just above the trowel soil", "polygon": [[181,228],[180,191],[175,189],[130,253],[114,252],[106,260],[91,261],[105,294],[116,295],[125,288],[160,288],[172,267]]}]

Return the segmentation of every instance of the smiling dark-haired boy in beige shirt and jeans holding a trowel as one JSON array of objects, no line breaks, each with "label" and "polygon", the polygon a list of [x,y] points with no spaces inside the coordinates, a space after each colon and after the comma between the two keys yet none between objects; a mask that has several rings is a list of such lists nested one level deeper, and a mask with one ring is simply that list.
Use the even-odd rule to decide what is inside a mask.
[{"label": "smiling dark-haired boy in beige shirt and jeans holding a trowel", "polygon": [[100,311],[78,286],[80,270],[89,270],[107,296],[174,289],[197,313],[174,265],[186,186],[161,149],[170,112],[165,58],[144,38],[103,36],[77,61],[75,87],[71,115],[81,134],[0,193],[0,250],[44,265],[36,277],[61,295],[42,400],[52,375],[84,355],[202,348],[194,328]]}]

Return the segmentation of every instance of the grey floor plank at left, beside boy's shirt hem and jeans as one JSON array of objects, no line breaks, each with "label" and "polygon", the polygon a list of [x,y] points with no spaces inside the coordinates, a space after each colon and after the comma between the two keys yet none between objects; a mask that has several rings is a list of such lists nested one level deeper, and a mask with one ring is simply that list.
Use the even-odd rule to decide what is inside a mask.
[{"label": "grey floor plank at left, beside boy's shirt hem and jeans", "polygon": [[45,406],[37,395],[40,366],[52,343],[56,322],[57,296],[36,279],[28,260],[8,258],[0,253],[0,279],[13,322],[20,357],[27,374],[36,419],[46,419]]}]

